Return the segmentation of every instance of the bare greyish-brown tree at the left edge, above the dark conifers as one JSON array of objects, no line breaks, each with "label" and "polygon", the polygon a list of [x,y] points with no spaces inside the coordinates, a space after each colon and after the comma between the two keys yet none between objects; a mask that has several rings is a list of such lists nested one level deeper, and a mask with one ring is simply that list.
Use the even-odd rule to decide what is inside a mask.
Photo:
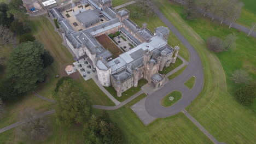
[{"label": "bare greyish-brown tree at the left edge, above the dark conifers", "polygon": [[7,27],[0,25],[0,44],[15,44],[16,38]]}]

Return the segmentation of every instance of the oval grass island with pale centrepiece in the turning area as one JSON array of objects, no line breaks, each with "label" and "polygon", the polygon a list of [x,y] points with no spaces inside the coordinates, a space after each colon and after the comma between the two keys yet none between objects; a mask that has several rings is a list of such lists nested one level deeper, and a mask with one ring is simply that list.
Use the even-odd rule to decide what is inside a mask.
[{"label": "oval grass island with pale centrepiece in the turning area", "polygon": [[181,92],[173,91],[173,92],[167,94],[164,98],[162,98],[161,105],[164,107],[172,106],[179,99],[181,99],[181,97],[182,97]]}]

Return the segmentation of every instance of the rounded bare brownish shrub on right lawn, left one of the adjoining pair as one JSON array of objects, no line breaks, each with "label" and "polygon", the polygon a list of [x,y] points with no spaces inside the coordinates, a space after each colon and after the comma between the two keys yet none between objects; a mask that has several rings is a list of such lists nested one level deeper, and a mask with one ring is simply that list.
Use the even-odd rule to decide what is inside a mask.
[{"label": "rounded bare brownish shrub on right lawn, left one of the adjoining pair", "polygon": [[223,41],[217,37],[210,37],[206,41],[207,47],[213,52],[222,52],[224,50]]}]

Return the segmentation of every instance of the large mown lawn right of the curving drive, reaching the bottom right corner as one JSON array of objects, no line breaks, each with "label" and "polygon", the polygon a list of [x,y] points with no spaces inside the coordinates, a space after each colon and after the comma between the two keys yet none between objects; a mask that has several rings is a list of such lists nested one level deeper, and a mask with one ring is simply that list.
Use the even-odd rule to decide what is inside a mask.
[{"label": "large mown lawn right of the curving drive, reaching the bottom right corner", "polygon": [[[256,141],[254,123],[256,115],[248,107],[237,103],[227,92],[226,78],[228,80],[231,71],[237,68],[247,69],[248,67],[244,64],[253,67],[255,38],[248,38],[244,33],[237,33],[237,48],[216,55],[206,49],[206,38],[211,35],[223,38],[235,32],[235,29],[219,26],[218,23],[213,23],[208,19],[184,20],[183,14],[179,11],[181,8],[176,8],[179,6],[167,0],[158,2],[162,13],[195,47],[202,60],[205,74],[204,87],[201,94],[187,108],[188,112],[220,142],[254,143]],[[253,75],[253,72],[251,71],[250,74]],[[233,87],[230,86],[230,82],[228,82],[228,87],[229,89]]]}]

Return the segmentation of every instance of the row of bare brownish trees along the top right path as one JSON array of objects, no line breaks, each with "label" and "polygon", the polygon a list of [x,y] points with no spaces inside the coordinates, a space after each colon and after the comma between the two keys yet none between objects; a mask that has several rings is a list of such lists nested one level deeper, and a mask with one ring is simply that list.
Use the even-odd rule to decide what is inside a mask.
[{"label": "row of bare brownish trees along the top right path", "polygon": [[193,19],[196,13],[206,16],[208,13],[212,20],[219,19],[220,23],[227,20],[232,22],[240,17],[243,3],[240,0],[185,0],[185,14]]}]

